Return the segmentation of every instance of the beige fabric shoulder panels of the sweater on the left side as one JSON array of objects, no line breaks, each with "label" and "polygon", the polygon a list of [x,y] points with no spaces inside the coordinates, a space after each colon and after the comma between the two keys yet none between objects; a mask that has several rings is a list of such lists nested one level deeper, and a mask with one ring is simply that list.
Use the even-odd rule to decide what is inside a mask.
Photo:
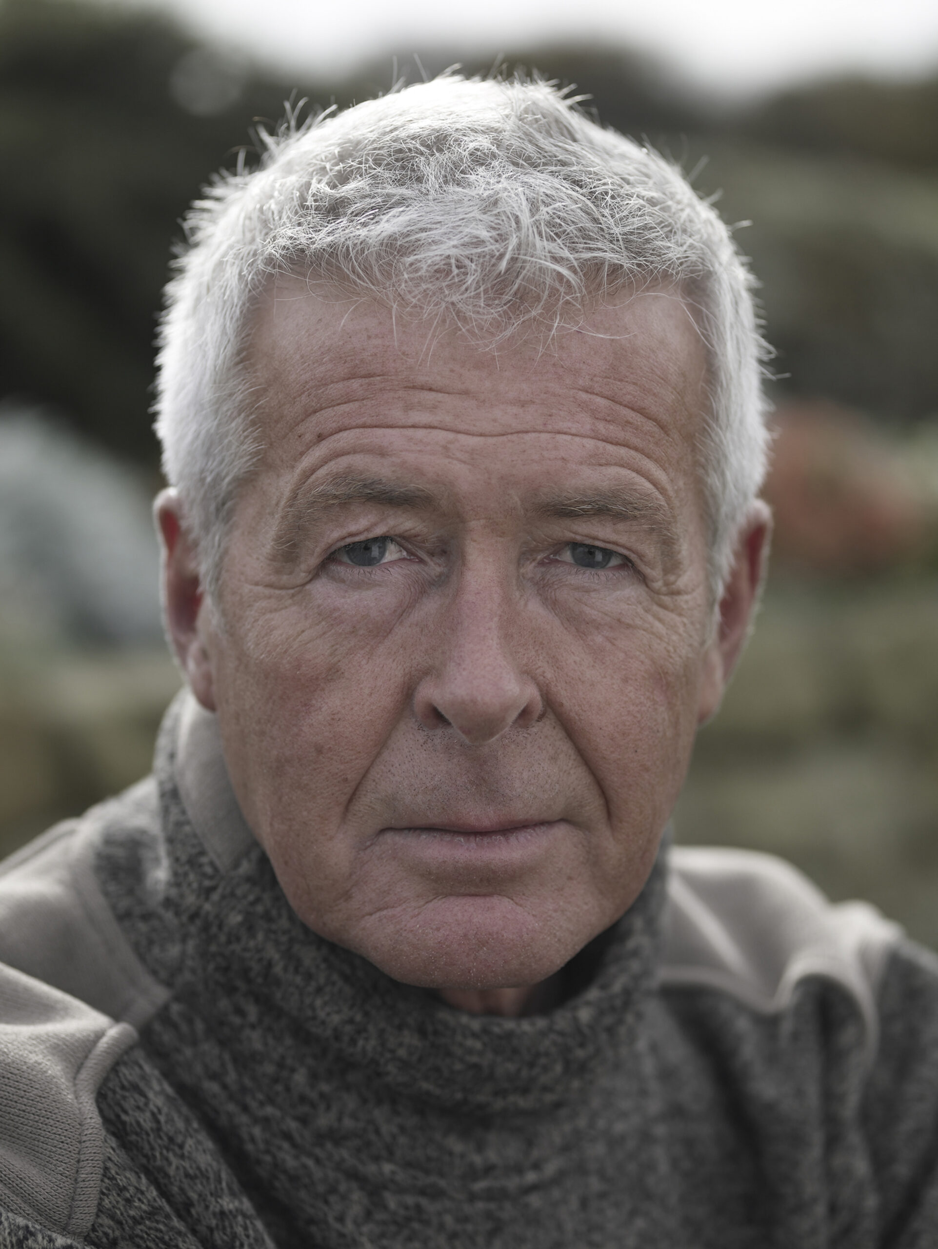
[{"label": "beige fabric shoulder panels of the sweater on the left side", "polygon": [[81,1239],[97,1207],[102,1080],[167,999],[94,871],[110,832],[152,829],[152,779],[0,864],[0,1207]]}]

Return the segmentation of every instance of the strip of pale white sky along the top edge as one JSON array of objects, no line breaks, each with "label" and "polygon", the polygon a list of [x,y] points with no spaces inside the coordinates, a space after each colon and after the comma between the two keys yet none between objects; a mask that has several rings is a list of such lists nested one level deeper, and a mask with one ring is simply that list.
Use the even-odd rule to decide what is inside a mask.
[{"label": "strip of pale white sky along the top edge", "polygon": [[644,47],[728,94],[843,70],[938,69],[938,0],[111,0],[175,15],[297,75],[382,52],[495,57],[565,40]]}]

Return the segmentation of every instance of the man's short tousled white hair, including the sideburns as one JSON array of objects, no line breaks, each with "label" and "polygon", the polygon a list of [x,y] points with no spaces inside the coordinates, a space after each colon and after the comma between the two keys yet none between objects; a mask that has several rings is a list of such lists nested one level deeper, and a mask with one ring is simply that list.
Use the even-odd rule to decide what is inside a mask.
[{"label": "man's short tousled white hair, including the sideburns", "polygon": [[445,75],[261,137],[260,166],[192,206],[160,333],[156,431],[210,592],[261,450],[242,362],[277,272],[480,346],[548,341],[618,290],[676,286],[708,355],[699,462],[723,585],[766,468],[766,348],[746,262],[674,165],[520,79]]}]

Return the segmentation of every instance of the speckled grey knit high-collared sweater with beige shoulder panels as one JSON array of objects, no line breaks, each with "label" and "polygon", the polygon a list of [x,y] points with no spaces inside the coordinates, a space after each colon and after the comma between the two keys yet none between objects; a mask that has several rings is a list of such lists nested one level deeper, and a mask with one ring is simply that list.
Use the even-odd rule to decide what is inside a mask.
[{"label": "speckled grey knit high-collared sweater with beige shoulder panels", "polygon": [[450,1009],[306,929],[181,699],[0,876],[0,1247],[938,1245],[938,963],[662,852],[565,1000]]}]

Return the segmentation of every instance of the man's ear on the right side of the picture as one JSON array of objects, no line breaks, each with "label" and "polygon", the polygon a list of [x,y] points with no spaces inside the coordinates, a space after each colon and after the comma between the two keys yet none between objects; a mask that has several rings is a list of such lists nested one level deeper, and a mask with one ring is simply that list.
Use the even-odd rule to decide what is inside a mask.
[{"label": "man's ear on the right side of the picture", "polygon": [[697,723],[714,716],[742,654],[768,563],[772,512],[757,498],[739,530],[733,565],[719,600],[717,627],[707,647]]}]

